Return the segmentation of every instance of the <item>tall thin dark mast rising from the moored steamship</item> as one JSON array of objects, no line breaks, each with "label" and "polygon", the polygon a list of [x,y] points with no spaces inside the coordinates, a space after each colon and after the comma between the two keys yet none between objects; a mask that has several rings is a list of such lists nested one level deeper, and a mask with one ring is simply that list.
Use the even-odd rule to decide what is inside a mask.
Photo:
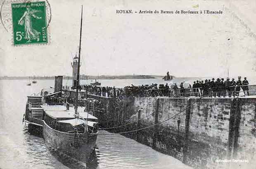
[{"label": "tall thin dark mast rising from the moored steamship", "polygon": [[79,88],[79,77],[80,77],[80,54],[81,54],[81,38],[82,38],[82,21],[83,21],[83,5],[81,12],[81,26],[80,26],[80,41],[79,41],[79,53],[78,53],[78,68],[77,68],[77,78],[76,78],[76,106],[75,106],[75,114],[79,115],[77,112],[78,108],[78,88]]}]

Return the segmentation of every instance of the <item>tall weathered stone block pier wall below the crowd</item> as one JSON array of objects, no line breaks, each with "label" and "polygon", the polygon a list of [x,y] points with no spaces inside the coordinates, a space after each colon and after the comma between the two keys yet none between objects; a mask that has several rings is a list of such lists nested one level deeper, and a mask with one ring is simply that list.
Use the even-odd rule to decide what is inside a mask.
[{"label": "tall weathered stone block pier wall below the crowd", "polygon": [[[107,104],[113,107],[114,103]],[[115,110],[108,109],[104,115],[104,120],[114,123],[105,127],[141,120],[110,132],[143,129],[172,117],[123,135],[193,168],[225,169],[230,163],[216,160],[247,159],[252,163],[256,159],[256,99],[141,97],[114,105]],[[232,164],[234,169],[239,166]]]}]

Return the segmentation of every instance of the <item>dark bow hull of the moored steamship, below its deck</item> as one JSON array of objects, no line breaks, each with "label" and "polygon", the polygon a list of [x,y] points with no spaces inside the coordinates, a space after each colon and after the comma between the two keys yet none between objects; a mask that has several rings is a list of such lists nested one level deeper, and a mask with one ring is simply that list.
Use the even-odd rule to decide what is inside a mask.
[{"label": "dark bow hull of the moored steamship, below its deck", "polygon": [[55,148],[72,158],[82,162],[88,162],[90,155],[94,151],[97,135],[71,134],[57,131],[43,124],[43,137],[45,141]]}]

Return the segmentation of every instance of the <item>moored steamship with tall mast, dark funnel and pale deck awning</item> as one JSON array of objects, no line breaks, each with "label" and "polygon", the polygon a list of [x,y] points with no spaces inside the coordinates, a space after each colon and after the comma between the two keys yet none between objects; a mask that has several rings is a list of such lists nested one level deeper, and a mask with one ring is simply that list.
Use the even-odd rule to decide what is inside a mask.
[{"label": "moored steamship with tall mast, dark funnel and pale deck awning", "polygon": [[[78,65],[80,65],[81,33]],[[57,151],[82,162],[88,159],[95,148],[98,133],[98,119],[84,107],[78,106],[79,68],[76,78],[76,100],[72,106],[68,100],[55,102],[54,98],[62,97],[62,76],[55,77],[54,92],[41,91],[40,96],[28,96],[24,121],[28,123],[28,129],[43,133],[45,141]],[[53,98],[53,99],[52,99]]]}]

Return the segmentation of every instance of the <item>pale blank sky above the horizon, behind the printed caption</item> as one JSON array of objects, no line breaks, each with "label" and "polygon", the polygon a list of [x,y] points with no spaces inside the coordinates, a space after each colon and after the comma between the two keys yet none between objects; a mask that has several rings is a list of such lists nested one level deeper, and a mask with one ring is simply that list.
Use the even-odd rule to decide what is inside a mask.
[{"label": "pale blank sky above the horizon, behind the printed caption", "polygon": [[[12,29],[7,32],[0,25],[0,76],[72,75],[81,5],[81,74],[169,71],[177,77],[225,77],[228,70],[231,76],[255,74],[256,38],[250,34],[256,33],[254,1],[48,1],[52,12],[48,45],[13,47]],[[116,14],[121,9],[222,10],[223,14]]]}]

